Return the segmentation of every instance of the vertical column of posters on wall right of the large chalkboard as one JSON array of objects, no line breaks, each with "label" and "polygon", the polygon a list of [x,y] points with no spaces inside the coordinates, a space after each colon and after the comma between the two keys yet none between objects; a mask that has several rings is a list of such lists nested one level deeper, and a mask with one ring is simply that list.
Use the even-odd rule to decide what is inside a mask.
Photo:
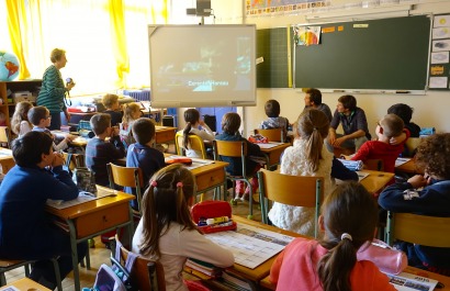
[{"label": "vertical column of posters on wall right of the large chalkboard", "polygon": [[449,90],[450,14],[435,15],[430,47],[428,88],[431,90]]}]

